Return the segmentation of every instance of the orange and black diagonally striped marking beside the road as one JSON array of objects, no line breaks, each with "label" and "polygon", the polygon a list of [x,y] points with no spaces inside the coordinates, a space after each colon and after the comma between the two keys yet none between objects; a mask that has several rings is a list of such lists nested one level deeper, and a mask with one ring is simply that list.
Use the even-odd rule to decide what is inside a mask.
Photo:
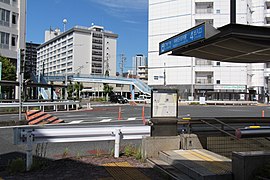
[{"label": "orange and black diagonally striped marking beside the road", "polygon": [[29,125],[41,125],[41,124],[57,124],[63,123],[63,120],[60,120],[56,116],[45,113],[40,110],[31,110],[25,113],[26,121]]}]

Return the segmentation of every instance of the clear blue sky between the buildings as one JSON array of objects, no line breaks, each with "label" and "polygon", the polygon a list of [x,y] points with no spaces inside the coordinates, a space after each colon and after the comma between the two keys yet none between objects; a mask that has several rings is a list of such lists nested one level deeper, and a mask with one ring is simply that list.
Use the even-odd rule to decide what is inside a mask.
[{"label": "clear blue sky between the buildings", "polygon": [[120,54],[127,57],[125,71],[131,69],[132,56],[147,56],[148,0],[27,0],[26,40],[44,42],[44,32],[50,26],[63,31],[75,25],[104,26],[118,34],[117,70]]}]

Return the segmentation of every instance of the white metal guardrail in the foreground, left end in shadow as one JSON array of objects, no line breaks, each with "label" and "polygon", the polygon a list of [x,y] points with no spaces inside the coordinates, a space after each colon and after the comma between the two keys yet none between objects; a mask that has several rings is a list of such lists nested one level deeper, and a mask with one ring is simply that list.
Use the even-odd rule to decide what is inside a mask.
[{"label": "white metal guardrail in the foreground, left end in shadow", "polygon": [[30,170],[33,144],[85,141],[115,141],[114,157],[119,157],[120,140],[142,139],[150,136],[150,126],[88,127],[16,127],[13,129],[14,144],[27,145],[26,167]]}]

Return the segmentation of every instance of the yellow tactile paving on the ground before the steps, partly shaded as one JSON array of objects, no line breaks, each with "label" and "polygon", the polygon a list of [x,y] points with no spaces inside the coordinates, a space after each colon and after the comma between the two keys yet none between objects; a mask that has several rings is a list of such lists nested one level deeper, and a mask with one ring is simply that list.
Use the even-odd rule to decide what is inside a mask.
[{"label": "yellow tactile paving on the ground before the steps, partly shaded", "polygon": [[107,163],[103,166],[115,180],[149,180],[147,176],[128,162]]}]

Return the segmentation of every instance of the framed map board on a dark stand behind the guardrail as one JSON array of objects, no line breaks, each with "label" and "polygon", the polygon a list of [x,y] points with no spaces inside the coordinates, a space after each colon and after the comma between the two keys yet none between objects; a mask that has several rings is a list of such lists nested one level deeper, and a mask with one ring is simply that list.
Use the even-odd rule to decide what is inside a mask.
[{"label": "framed map board on a dark stand behind the guardrail", "polygon": [[178,116],[178,96],[177,90],[153,90],[151,103],[151,117],[161,118]]}]

